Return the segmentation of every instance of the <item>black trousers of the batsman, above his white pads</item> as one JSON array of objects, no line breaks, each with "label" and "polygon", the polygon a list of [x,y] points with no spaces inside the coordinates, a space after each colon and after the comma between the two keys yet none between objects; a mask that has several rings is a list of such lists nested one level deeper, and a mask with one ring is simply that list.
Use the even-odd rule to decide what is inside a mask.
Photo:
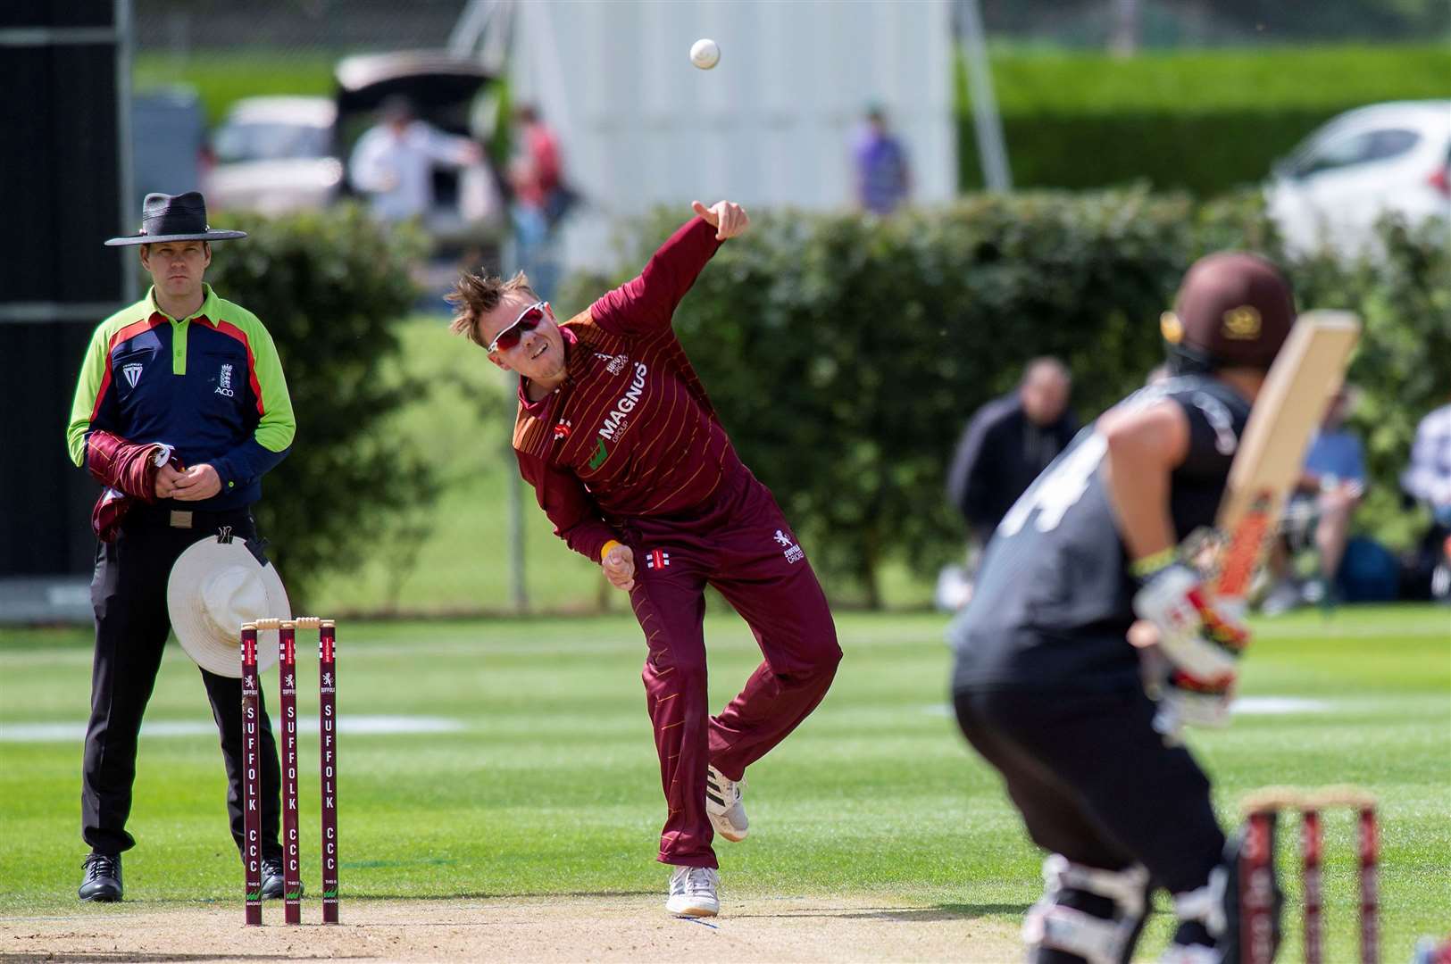
[{"label": "black trousers of the batsman, above his white pads", "polygon": [[1194,890],[1223,860],[1209,778],[1155,732],[1142,690],[959,690],[958,723],[1007,784],[1033,842],[1068,860]]}]

